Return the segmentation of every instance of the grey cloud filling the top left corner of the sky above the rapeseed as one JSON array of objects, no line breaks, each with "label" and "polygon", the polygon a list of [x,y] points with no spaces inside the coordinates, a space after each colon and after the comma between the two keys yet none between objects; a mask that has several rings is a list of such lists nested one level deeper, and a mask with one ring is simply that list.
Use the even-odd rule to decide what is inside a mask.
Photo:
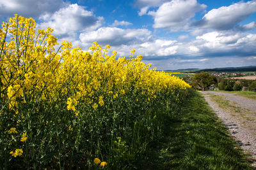
[{"label": "grey cloud filling the top left corner of the sky above the rapeseed", "polygon": [[0,15],[12,17],[17,13],[24,17],[38,17],[43,13],[53,13],[64,6],[62,0],[8,0],[0,1]]}]

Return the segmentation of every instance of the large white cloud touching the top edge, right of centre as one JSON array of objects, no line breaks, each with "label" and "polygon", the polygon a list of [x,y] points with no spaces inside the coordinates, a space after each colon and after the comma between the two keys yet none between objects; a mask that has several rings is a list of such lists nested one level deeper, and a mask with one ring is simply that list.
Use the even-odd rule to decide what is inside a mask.
[{"label": "large white cloud touching the top edge, right of centre", "polygon": [[180,31],[188,30],[190,19],[205,8],[205,4],[196,0],[173,0],[162,4],[157,11],[148,11],[148,14],[154,17],[154,28]]}]

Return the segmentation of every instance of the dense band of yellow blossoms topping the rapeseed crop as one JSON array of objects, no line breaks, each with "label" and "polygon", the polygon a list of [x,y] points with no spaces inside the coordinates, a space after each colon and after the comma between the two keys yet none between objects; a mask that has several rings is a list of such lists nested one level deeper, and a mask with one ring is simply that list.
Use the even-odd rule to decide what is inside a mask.
[{"label": "dense band of yellow blossoms topping the rapeseed crop", "polygon": [[[141,89],[142,94],[149,97],[159,90],[189,87],[179,78],[150,69],[150,64],[141,62],[141,55],[133,56],[134,49],[130,59],[116,59],[116,52],[107,55],[109,45],[102,48],[95,42],[90,48],[92,52],[83,52],[79,47],[71,49],[72,44],[63,41],[62,51],[56,53],[54,46],[58,43],[51,35],[52,29],[38,29],[36,34],[35,24],[32,18],[15,15],[10,24],[2,25],[12,36],[12,41],[4,42],[5,34],[1,33],[1,90],[7,90],[6,100],[10,101],[13,110],[17,108],[19,97],[24,103],[38,97],[54,103],[58,94],[70,96],[67,86],[74,89],[67,99],[67,110],[74,112],[79,100],[97,108],[98,104],[104,105],[103,96],[108,96],[109,92],[113,92],[111,95],[116,99],[131,87]],[[17,40],[19,44],[15,43]],[[102,95],[97,103],[93,96],[99,92]]]}]

